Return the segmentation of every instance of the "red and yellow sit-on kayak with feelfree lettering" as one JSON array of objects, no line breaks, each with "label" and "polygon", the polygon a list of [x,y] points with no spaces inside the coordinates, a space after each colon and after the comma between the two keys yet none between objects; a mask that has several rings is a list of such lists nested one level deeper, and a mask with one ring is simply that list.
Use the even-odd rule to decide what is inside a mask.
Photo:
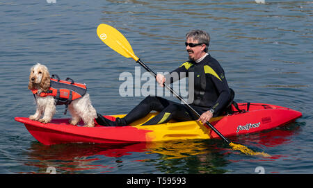
[{"label": "red and yellow sit-on kayak with feelfree lettering", "polygon": [[[263,103],[238,103],[243,112],[235,112],[222,117],[215,117],[210,123],[225,137],[255,133],[282,126],[301,117],[301,112],[277,105]],[[131,142],[158,142],[177,139],[211,139],[218,138],[208,126],[198,121],[184,121],[141,126],[157,113],[151,113],[143,119],[125,127],[105,127],[95,125],[93,128],[72,126],[69,119],[53,119],[50,123],[32,121],[26,117],[15,117],[15,121],[24,123],[29,133],[45,145],[63,143],[99,143],[122,144]],[[106,116],[111,120],[125,114]]]}]

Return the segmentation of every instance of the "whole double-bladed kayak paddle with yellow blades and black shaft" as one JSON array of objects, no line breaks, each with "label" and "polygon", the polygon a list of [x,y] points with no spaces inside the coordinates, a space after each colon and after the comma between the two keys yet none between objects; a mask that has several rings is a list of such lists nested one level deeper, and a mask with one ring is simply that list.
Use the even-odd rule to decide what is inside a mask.
[{"label": "whole double-bladed kayak paddle with yellow blades and black shaft", "polygon": [[[112,26],[109,26],[107,24],[99,24],[97,27],[97,35],[98,37],[104,42],[106,45],[108,45],[111,49],[114,51],[120,53],[120,55],[123,55],[125,58],[133,58],[136,62],[138,62],[144,69],[146,69],[148,72],[150,72],[154,77],[157,76],[157,74],[154,73],[145,63],[143,63],[134,53],[133,49],[131,48],[131,45],[127,41],[127,39],[118,31],[117,29],[113,28]],[[199,118],[200,114],[195,111],[191,105],[188,105],[188,103],[177,94],[170,86],[168,86],[166,83],[164,83],[164,87],[170,90],[172,94],[174,94],[180,101],[182,101],[190,110],[192,110],[196,116]],[[224,140],[229,146],[232,147],[234,150],[239,150],[242,153],[245,153],[247,155],[263,155],[264,157],[269,157],[271,155],[268,155],[267,153],[260,153],[252,151],[250,148],[243,146],[241,144],[234,144],[233,142],[230,142],[229,139],[225,138],[214,126],[209,123],[209,121],[206,122],[207,126],[209,126],[221,139]]]}]

